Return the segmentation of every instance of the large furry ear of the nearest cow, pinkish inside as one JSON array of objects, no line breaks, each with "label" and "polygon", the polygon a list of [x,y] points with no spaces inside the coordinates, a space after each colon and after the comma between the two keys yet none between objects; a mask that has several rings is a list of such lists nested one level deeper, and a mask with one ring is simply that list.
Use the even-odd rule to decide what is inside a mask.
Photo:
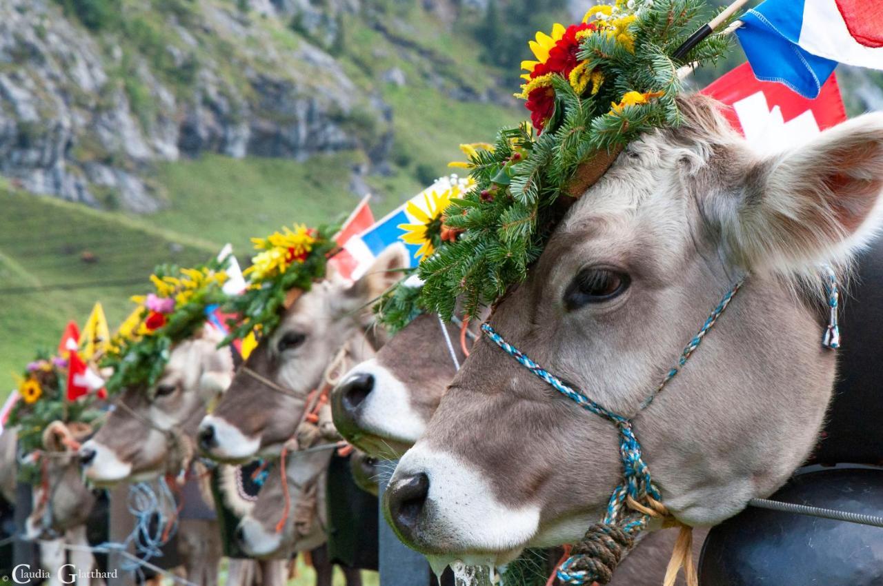
[{"label": "large furry ear of the nearest cow, pinkish inside", "polygon": [[867,114],[789,152],[753,162],[714,198],[728,252],[749,269],[840,264],[876,235],[883,192],[883,114]]}]

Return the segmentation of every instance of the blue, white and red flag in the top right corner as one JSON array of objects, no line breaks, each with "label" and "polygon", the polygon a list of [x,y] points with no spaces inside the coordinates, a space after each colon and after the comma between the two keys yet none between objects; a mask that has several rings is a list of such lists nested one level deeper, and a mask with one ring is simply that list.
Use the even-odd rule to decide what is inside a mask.
[{"label": "blue, white and red flag in the top right corner", "polygon": [[838,63],[883,70],[883,2],[766,0],[740,20],[736,34],[758,79],[807,98]]}]

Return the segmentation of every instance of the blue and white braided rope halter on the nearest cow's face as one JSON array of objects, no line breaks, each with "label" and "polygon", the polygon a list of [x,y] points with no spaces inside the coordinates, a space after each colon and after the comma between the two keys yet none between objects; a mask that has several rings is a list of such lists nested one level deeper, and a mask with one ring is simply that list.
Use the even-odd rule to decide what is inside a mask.
[{"label": "blue and white braided rope halter on the nearest cow's face", "polygon": [[[690,343],[683,349],[675,367],[668,371],[659,386],[641,403],[638,413],[646,409],[668,384],[668,381],[674,379],[675,375],[681,372],[683,365],[687,363],[706,334],[714,327],[717,319],[721,317],[721,313],[727,309],[729,302],[736,296],[742,283],[743,281],[737,282],[721,299],[721,303],[708,316],[698,334],[693,336]],[[577,552],[576,555],[572,555],[564,561],[558,569],[558,578],[562,582],[576,586],[596,581],[609,582],[610,574],[622,555],[622,553],[612,552],[630,548],[633,544],[633,537],[645,529],[650,517],[653,516],[652,512],[660,510],[661,495],[659,489],[653,485],[650,470],[641,455],[641,444],[632,429],[633,417],[618,415],[592,401],[585,394],[568,387],[561,379],[547,372],[540,364],[533,362],[523,352],[503,340],[502,335],[497,334],[494,328],[487,323],[482,324],[481,329],[488,338],[493,340],[509,356],[524,365],[527,370],[545,380],[551,387],[576,402],[583,409],[607,419],[615,425],[619,432],[619,452],[623,459],[623,484],[618,485],[610,496],[604,519],[599,524],[593,525],[586,533],[584,542],[586,545],[583,548],[586,553]],[[601,560],[592,559],[594,557],[601,558]]]}]

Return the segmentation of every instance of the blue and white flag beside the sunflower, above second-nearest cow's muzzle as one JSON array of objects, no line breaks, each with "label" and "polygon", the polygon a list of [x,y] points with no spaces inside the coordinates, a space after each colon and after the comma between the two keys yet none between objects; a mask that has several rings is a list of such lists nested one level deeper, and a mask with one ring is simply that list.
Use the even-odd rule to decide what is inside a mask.
[{"label": "blue and white flag beside the sunflower, above second-nearest cow's muzzle", "polygon": [[405,244],[402,241],[404,230],[399,228],[400,224],[419,222],[419,219],[407,210],[408,204],[412,203],[426,214],[432,214],[434,210],[427,207],[431,198],[427,198],[427,195],[433,192],[446,192],[455,185],[465,192],[469,188],[469,182],[470,179],[458,177],[457,175],[442,177],[384,216],[381,220],[375,222],[371,228],[347,240],[346,244],[343,244],[343,249],[350,252],[352,257],[358,260],[358,267],[353,270],[351,278],[353,280],[358,279],[371,266],[377,255],[383,252],[390,244],[395,244],[396,242],[402,243],[407,247],[408,252],[410,252],[408,255],[408,258],[411,260],[410,267],[416,267],[418,262],[416,254],[419,246]]}]

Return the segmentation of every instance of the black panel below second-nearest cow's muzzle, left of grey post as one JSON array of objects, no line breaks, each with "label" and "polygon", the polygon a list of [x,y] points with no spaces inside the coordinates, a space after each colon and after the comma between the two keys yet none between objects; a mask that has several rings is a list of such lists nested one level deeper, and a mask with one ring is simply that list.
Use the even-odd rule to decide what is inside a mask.
[{"label": "black panel below second-nearest cow's muzzle, left of grey post", "polygon": [[328,558],[332,563],[376,570],[377,497],[352,479],[349,457],[328,465]]}]

